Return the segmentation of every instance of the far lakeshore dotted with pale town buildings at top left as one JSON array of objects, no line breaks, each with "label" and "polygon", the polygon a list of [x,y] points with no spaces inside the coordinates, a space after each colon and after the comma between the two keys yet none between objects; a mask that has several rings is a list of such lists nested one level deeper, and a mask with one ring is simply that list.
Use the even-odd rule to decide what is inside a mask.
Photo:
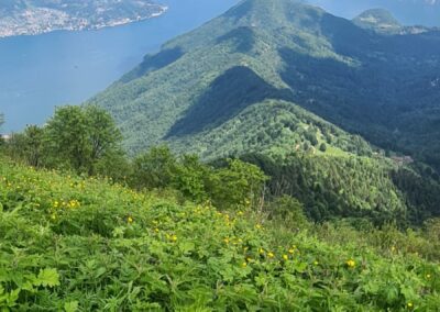
[{"label": "far lakeshore dotted with pale town buildings at top left", "polygon": [[151,0],[2,0],[0,37],[55,30],[100,29],[162,14]]}]

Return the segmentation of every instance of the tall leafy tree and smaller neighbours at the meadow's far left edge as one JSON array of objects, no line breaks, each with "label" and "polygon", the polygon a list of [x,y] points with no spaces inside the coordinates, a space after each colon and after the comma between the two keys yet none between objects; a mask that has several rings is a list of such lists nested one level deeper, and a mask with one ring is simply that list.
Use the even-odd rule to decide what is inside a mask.
[{"label": "tall leafy tree and smaller neighbours at the meadow's far left edge", "polygon": [[106,111],[97,107],[63,107],[44,127],[31,125],[14,134],[8,151],[13,158],[34,167],[120,177],[127,168],[119,147],[121,140]]}]

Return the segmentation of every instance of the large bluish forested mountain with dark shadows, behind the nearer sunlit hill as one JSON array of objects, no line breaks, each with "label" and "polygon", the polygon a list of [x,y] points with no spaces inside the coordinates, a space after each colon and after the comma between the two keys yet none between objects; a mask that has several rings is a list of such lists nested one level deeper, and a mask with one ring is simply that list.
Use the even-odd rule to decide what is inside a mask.
[{"label": "large bluish forested mountain with dark shadows, behind the nearer sunlit hill", "polygon": [[271,99],[439,168],[439,55],[438,31],[382,35],[297,1],[248,0],[90,102],[111,111],[133,153],[193,147]]}]

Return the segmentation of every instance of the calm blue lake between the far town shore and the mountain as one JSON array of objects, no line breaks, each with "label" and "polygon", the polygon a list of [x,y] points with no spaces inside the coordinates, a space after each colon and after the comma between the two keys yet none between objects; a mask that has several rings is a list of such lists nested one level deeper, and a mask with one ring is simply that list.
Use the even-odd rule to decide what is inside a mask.
[{"label": "calm blue lake between the far town shore and the mountain", "polygon": [[118,27],[0,40],[0,132],[42,124],[56,105],[103,90],[166,41],[221,14],[239,0],[163,0],[167,13]]}]

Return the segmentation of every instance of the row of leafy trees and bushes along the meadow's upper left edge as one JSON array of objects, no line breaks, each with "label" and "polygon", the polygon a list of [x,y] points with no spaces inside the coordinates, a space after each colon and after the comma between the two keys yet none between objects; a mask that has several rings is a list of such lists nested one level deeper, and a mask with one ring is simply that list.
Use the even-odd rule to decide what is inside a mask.
[{"label": "row of leafy trees and bushes along the meadow's upper left edge", "polygon": [[228,159],[215,168],[196,155],[175,156],[157,146],[130,159],[111,116],[97,107],[63,107],[44,126],[13,134],[4,152],[37,168],[105,176],[133,189],[175,190],[183,199],[216,207],[250,207],[260,200],[267,177],[255,165]]}]

